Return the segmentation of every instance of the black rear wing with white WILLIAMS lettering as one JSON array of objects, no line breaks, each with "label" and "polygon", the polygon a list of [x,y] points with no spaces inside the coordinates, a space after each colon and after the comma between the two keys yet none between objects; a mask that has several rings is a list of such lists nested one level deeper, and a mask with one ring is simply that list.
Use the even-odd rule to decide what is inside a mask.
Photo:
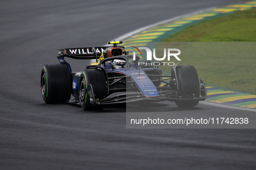
[{"label": "black rear wing with white WILLIAMS lettering", "polygon": [[69,57],[78,60],[97,59],[97,56],[100,56],[106,48],[107,47],[84,47],[59,49],[58,57]]}]

